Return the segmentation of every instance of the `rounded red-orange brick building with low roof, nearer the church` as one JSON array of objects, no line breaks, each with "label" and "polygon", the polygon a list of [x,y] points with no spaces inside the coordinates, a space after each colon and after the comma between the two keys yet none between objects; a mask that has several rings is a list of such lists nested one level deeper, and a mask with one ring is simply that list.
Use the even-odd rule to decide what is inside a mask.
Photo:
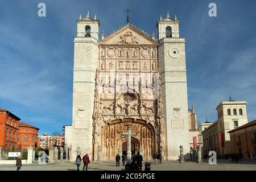
[{"label": "rounded red-orange brick building with low roof, nearer the church", "polygon": [[38,128],[19,122],[18,148],[37,147]]}]

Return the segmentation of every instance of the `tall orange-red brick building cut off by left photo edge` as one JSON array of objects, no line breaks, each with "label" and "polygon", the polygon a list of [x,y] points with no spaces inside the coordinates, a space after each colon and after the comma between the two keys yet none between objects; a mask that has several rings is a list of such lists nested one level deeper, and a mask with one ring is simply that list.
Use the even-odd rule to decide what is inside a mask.
[{"label": "tall orange-red brick building cut off by left photo edge", "polygon": [[17,148],[20,118],[0,108],[0,146],[3,150]]}]

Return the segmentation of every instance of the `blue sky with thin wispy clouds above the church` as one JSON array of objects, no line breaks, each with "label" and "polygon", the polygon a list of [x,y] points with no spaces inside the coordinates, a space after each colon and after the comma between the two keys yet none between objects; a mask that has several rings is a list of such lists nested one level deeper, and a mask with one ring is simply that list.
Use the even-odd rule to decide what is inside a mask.
[{"label": "blue sky with thin wispy clouds above the church", "polygon": [[[47,16],[39,18],[38,4]],[[217,5],[217,17],[208,5]],[[151,33],[160,15],[177,15],[185,37],[188,104],[197,118],[215,121],[216,106],[229,99],[247,101],[256,119],[256,1],[1,1],[0,107],[40,128],[39,134],[72,123],[73,36],[76,19],[96,14],[100,32],[126,23]]]}]

